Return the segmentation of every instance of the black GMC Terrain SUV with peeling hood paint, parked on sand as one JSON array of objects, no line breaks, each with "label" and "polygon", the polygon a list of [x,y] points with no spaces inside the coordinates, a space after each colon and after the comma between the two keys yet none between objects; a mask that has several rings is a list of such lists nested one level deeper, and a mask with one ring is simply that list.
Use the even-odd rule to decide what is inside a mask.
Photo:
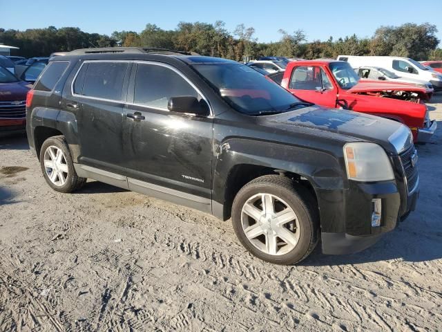
[{"label": "black GMC Terrain SUV with peeling hood paint, parked on sand", "polygon": [[298,100],[227,59],[152,48],[75,50],[28,93],[50,187],[86,178],[231,218],[253,255],[363,250],[414,210],[410,130]]}]

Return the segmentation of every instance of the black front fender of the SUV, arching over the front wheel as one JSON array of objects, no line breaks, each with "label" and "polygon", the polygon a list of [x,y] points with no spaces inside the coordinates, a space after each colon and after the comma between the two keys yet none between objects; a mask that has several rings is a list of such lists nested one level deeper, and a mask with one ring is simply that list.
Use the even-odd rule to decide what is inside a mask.
[{"label": "black front fender of the SUV, arching over the front wheel", "polygon": [[[318,202],[318,189],[343,188],[339,160],[314,149],[263,142],[236,141],[222,145],[213,176],[213,214],[222,220],[231,217],[233,199],[239,190],[263,175],[280,174],[307,188]],[[256,151],[255,155],[249,151]],[[258,153],[259,152],[259,153]],[[282,159],[283,158],[283,159]]]}]

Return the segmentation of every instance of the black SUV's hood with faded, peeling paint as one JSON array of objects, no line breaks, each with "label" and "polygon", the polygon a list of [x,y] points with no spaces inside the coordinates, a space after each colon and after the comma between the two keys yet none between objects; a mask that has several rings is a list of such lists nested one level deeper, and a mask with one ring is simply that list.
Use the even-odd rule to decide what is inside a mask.
[{"label": "black SUV's hood with faded, peeling paint", "polygon": [[316,135],[320,135],[320,131],[327,131],[340,135],[340,139],[347,142],[376,142],[393,154],[396,154],[396,149],[390,140],[394,133],[404,130],[406,133],[410,132],[403,124],[393,120],[317,105],[274,116],[261,116],[258,117],[258,122],[283,130],[295,130],[295,127],[316,129]]}]

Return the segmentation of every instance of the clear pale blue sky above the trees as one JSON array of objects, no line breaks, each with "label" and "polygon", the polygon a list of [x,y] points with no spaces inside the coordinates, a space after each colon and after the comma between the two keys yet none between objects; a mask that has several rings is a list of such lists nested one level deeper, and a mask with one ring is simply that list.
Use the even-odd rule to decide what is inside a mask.
[{"label": "clear pale blue sky above the trees", "polygon": [[370,37],[381,25],[406,22],[436,24],[442,40],[442,5],[401,1],[16,1],[0,0],[0,28],[77,26],[88,33],[110,35],[114,30],[140,32],[147,23],[174,29],[180,21],[214,23],[222,20],[233,31],[237,24],[253,26],[260,42],[275,42],[280,28],[302,29],[309,41],[356,33]]}]

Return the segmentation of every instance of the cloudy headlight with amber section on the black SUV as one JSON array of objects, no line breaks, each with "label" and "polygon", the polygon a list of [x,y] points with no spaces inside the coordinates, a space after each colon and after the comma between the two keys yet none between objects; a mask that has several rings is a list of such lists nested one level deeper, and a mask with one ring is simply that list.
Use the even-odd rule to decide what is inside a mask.
[{"label": "cloudy headlight with amber section on the black SUV", "polygon": [[370,142],[347,143],[344,145],[344,157],[349,180],[394,180],[392,165],[380,145]]}]

